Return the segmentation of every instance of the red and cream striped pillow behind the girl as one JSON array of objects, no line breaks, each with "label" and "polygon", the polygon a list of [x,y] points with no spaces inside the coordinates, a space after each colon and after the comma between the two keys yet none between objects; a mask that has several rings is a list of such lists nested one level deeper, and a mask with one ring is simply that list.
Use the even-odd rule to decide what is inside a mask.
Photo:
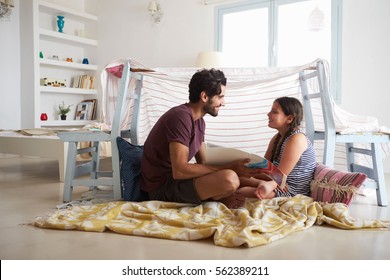
[{"label": "red and cream striped pillow behind the girl", "polygon": [[316,201],[341,202],[349,206],[367,175],[332,169],[318,164],[310,183],[311,197]]}]

